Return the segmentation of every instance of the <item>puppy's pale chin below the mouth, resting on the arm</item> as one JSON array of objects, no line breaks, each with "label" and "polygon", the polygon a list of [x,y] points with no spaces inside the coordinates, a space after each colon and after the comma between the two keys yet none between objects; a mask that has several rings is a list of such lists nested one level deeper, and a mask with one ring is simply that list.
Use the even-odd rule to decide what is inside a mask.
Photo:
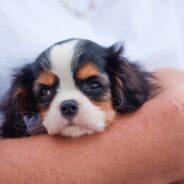
[{"label": "puppy's pale chin below the mouth, resting on the arm", "polygon": [[91,130],[89,128],[80,127],[79,125],[67,125],[61,130],[59,130],[58,134],[66,137],[80,137],[86,134],[93,134],[96,131]]}]

